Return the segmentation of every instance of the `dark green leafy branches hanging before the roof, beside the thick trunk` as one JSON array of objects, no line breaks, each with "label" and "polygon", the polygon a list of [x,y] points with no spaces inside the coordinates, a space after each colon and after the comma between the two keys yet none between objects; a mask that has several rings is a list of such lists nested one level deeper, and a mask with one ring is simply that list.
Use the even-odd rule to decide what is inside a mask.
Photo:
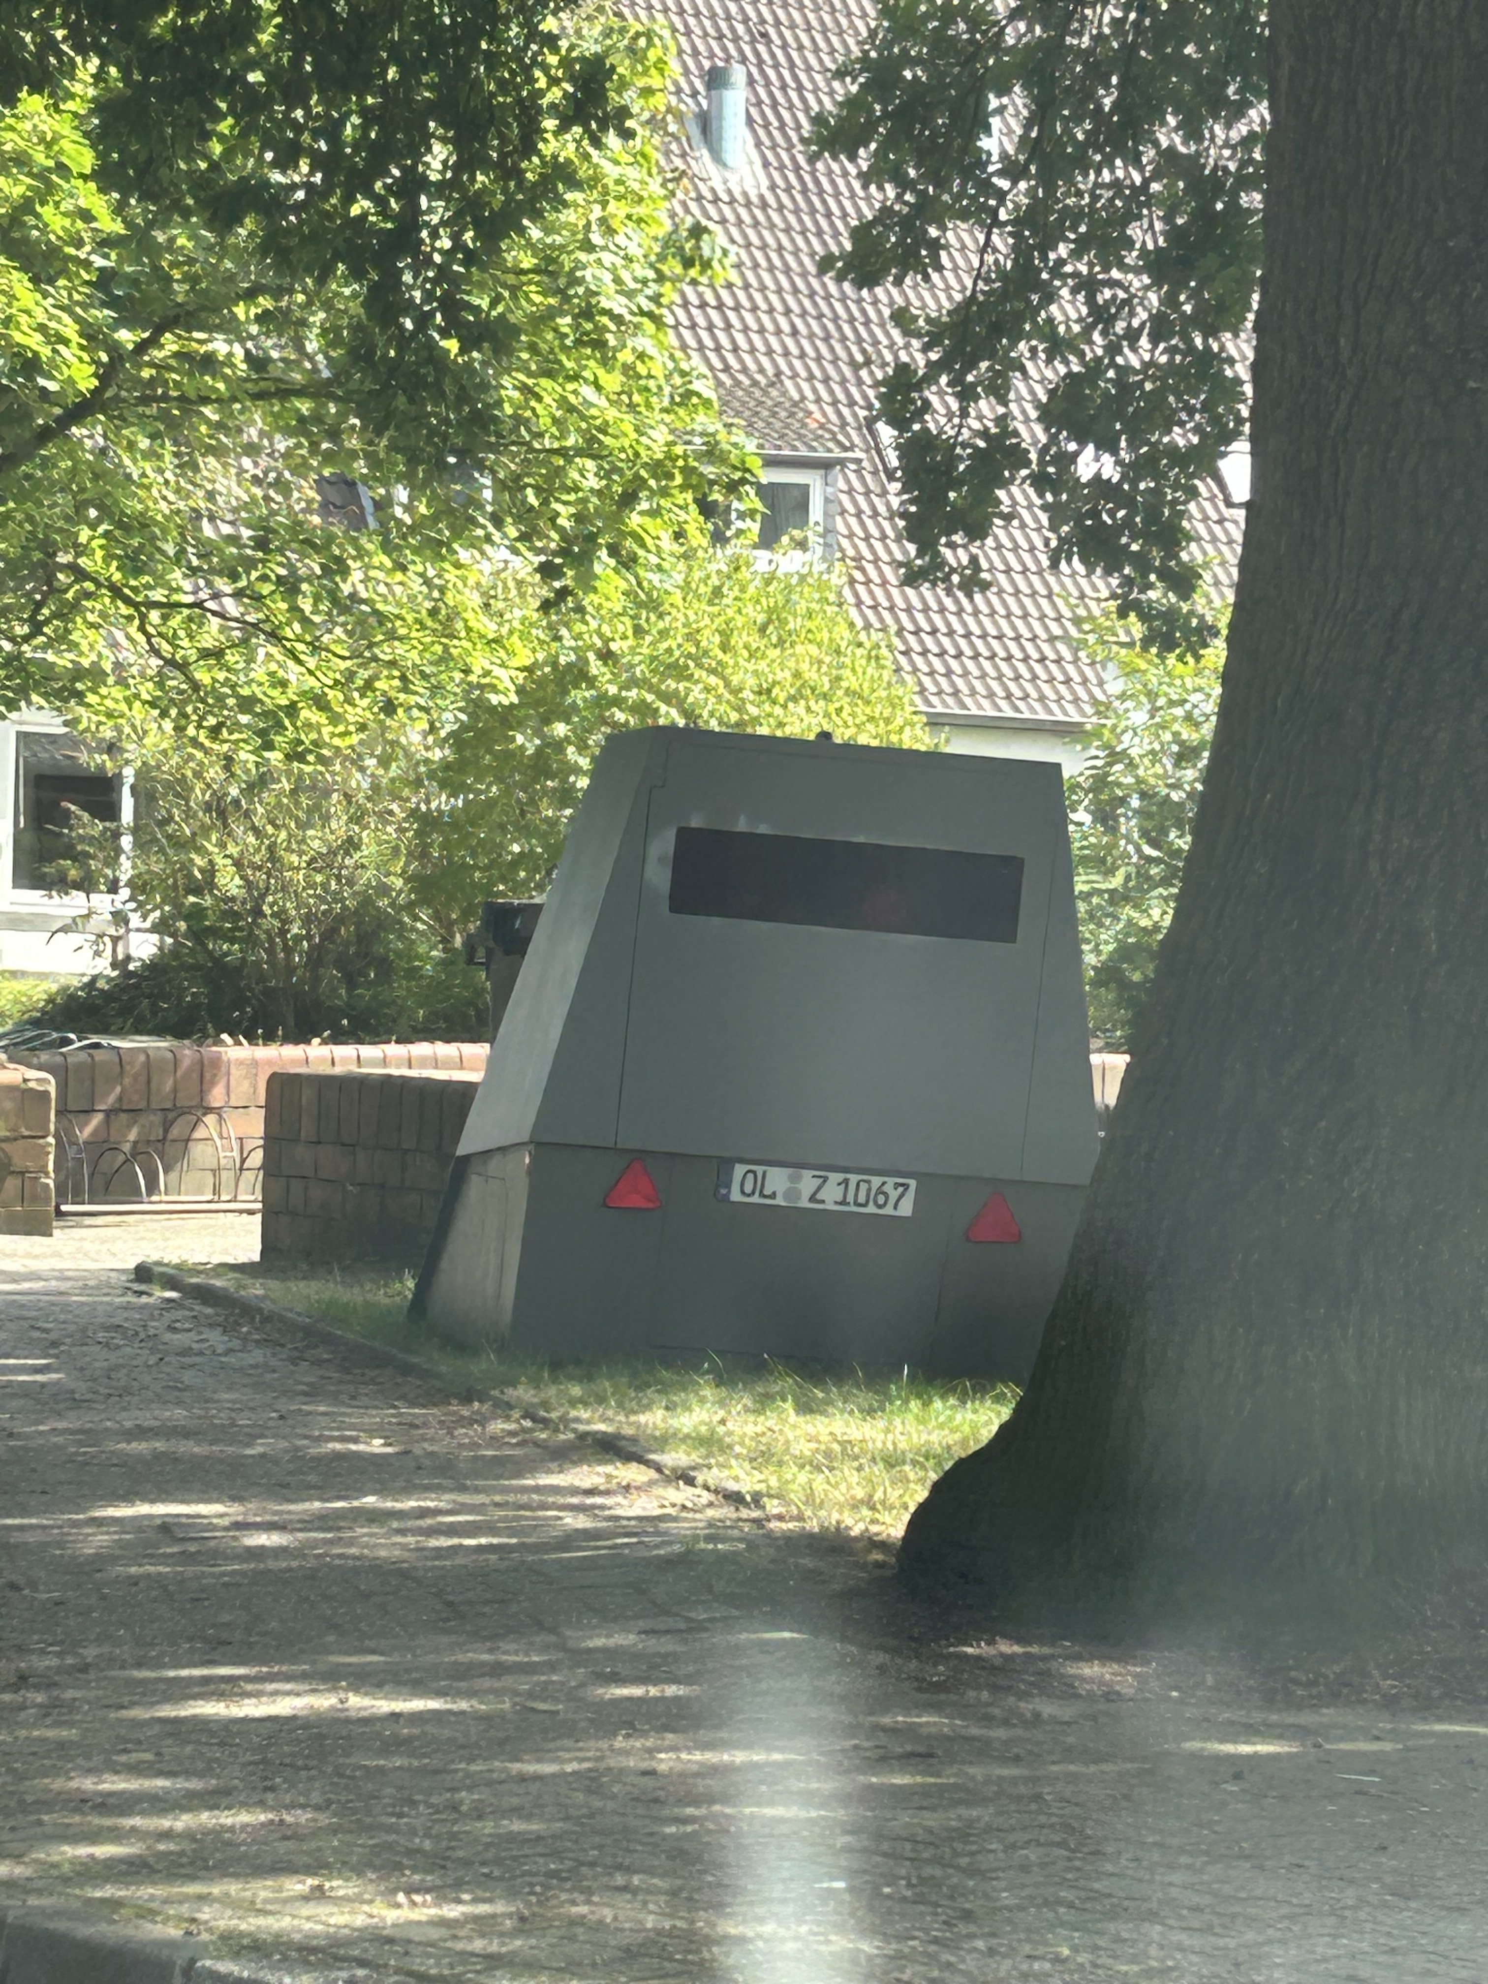
[{"label": "dark green leafy branches hanging before the roof, beside the thick trunk", "polygon": [[911,284],[881,385],[911,577],[980,583],[1014,486],[1125,605],[1190,599],[1188,510],[1246,421],[1262,0],[879,0],[825,153],[877,192],[831,260]]}]

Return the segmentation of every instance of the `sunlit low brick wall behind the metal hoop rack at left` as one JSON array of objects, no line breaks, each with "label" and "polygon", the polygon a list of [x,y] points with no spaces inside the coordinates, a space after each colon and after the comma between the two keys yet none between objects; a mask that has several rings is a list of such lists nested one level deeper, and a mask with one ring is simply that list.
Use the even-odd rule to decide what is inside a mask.
[{"label": "sunlit low brick wall behind the metal hoop rack at left", "polygon": [[[18,1054],[52,1077],[58,1095],[58,1198],[139,1198],[139,1173],[119,1153],[161,1153],[167,1188],[186,1196],[220,1192],[218,1145],[248,1157],[244,1196],[258,1188],[258,1147],[270,1075],[290,1071],[407,1069],[480,1075],[484,1042],[415,1042],[377,1048],[194,1048],[119,1046]],[[196,1121],[196,1117],[204,1121]],[[115,1147],[107,1151],[105,1147]],[[81,1153],[81,1155],[79,1155]],[[141,1159],[143,1161],[143,1159]],[[149,1188],[155,1165],[145,1163]]]}]

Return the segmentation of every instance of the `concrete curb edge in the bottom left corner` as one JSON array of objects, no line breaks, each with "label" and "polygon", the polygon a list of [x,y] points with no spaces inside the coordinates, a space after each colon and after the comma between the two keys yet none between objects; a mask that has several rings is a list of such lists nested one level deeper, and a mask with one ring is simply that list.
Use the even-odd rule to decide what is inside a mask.
[{"label": "concrete curb edge in the bottom left corner", "polygon": [[304,1970],[240,1970],[210,1956],[194,1936],[173,1936],[107,1915],[20,1905],[0,1907],[0,1984],[337,1984],[337,1980],[323,1972],[311,1976]]}]

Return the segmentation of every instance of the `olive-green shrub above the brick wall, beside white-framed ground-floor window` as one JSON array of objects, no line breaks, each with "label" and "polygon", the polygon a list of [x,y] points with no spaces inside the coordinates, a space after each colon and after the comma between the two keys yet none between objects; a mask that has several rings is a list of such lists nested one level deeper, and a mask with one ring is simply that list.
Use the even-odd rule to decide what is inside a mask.
[{"label": "olive-green shrub above the brick wall, beside white-framed ground-floor window", "polygon": [[[46,1006],[71,1032],[480,1040],[482,984],[409,891],[407,778],[377,746],[313,766],[155,740],[137,756],[131,915],[165,948]],[[77,821],[97,881],[117,829]]]}]

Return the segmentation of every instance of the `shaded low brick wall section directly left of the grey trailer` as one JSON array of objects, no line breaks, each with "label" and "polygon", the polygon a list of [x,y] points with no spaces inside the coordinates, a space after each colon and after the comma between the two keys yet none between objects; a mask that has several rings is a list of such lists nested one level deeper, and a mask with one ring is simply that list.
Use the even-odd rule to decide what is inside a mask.
[{"label": "shaded low brick wall section directly left of the grey trailer", "polygon": [[417,1266],[478,1085],[478,1069],[270,1075],[264,1260]]}]

